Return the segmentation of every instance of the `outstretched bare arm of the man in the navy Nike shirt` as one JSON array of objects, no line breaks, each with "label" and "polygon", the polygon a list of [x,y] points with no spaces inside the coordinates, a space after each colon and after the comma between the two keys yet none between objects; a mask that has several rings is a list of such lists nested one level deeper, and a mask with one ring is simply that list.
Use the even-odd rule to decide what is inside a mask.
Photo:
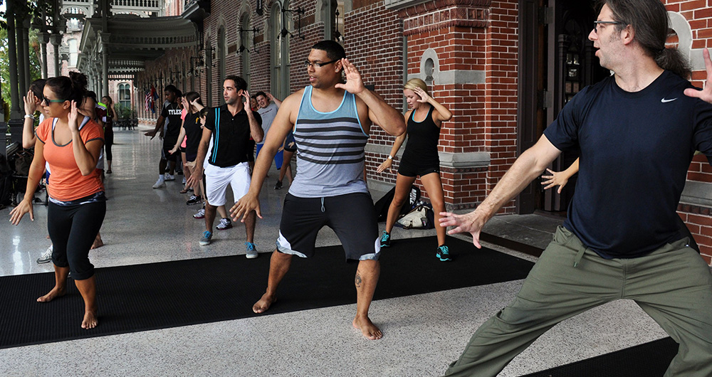
[{"label": "outstretched bare arm of the man in the navy Nike shirt", "polygon": [[472,243],[481,248],[480,232],[485,223],[508,201],[522,191],[531,181],[541,174],[546,166],[561,153],[549,139],[542,136],[534,147],[527,149],[507,171],[492,192],[475,208],[464,215],[449,212],[440,213],[440,226],[454,226],[449,234],[468,232],[472,234]]}]

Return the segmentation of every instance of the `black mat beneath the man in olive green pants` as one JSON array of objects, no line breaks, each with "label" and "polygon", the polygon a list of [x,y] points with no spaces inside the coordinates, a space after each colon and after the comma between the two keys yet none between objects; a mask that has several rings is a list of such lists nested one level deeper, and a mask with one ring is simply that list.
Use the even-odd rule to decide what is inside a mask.
[{"label": "black mat beneath the man in olive green pants", "polygon": [[524,377],[662,377],[677,348],[672,338],[664,338]]}]

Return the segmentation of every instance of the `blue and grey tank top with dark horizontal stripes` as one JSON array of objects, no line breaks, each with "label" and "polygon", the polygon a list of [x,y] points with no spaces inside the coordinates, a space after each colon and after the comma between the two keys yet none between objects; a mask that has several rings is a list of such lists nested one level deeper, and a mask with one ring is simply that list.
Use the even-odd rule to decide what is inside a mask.
[{"label": "blue and grey tank top with dark horizontal stripes", "polygon": [[311,102],[312,87],[305,87],[294,125],[298,174],[289,193],[300,198],[323,198],[347,193],[367,193],[363,180],[363,132],[356,98],[344,92],[333,112],[318,112]]}]

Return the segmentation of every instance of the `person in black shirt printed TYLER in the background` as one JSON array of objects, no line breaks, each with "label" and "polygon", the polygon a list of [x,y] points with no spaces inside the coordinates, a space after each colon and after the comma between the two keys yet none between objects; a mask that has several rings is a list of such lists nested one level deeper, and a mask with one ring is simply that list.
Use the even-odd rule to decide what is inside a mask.
[{"label": "person in black shirt printed TYLER in the background", "polygon": [[[167,85],[164,89],[164,95],[166,96],[167,104],[163,107],[161,115],[156,121],[156,128],[153,131],[145,133],[145,135],[150,136],[151,139],[156,137],[156,134],[159,134],[159,137],[163,139],[161,161],[158,164],[158,181],[153,185],[153,188],[165,187],[165,181],[172,181],[174,179],[173,174],[166,173],[166,167],[169,166],[170,171],[174,171],[175,169],[175,157],[171,156],[169,151],[176,144],[178,135],[180,134],[180,127],[183,123],[181,119],[182,109],[178,103],[178,88],[174,85]],[[168,122],[165,134],[163,132],[164,122]]]}]

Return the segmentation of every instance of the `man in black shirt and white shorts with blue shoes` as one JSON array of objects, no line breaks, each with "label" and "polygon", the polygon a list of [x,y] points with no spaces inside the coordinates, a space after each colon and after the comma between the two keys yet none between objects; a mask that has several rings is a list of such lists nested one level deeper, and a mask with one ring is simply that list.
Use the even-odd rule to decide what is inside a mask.
[{"label": "man in black shirt and white shorts with blue shoes", "polygon": [[[248,154],[252,152],[250,137],[256,142],[263,138],[262,118],[250,108],[250,95],[245,80],[233,75],[227,76],[223,83],[223,97],[225,105],[208,110],[198,156],[195,159],[196,169],[188,179],[189,185],[196,184],[203,172],[205,173],[205,195],[208,203],[205,206],[205,231],[200,245],[211,243],[215,211],[217,207],[225,204],[228,184],[232,187],[235,201],[249,190],[251,175]],[[243,98],[246,103],[242,102]],[[211,137],[212,152],[207,156],[208,164],[203,169]],[[255,220],[253,211],[245,221],[248,258],[257,257],[253,242]]]}]

